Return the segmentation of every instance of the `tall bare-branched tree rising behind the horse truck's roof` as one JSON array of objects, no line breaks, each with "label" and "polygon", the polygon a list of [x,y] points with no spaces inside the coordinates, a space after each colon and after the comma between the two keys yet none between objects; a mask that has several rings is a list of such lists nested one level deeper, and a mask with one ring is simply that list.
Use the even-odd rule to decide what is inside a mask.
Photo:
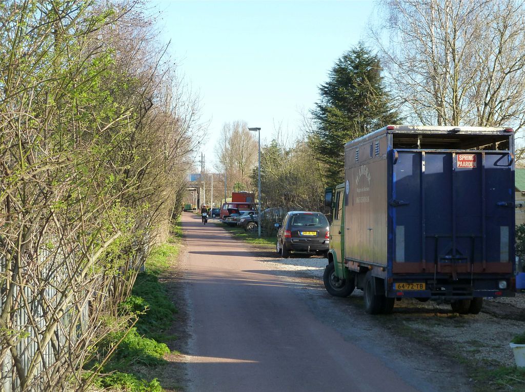
[{"label": "tall bare-branched tree rising behind the horse truck's roof", "polygon": [[522,2],[390,0],[379,14],[381,24],[370,31],[409,118],[423,125],[523,127]]}]

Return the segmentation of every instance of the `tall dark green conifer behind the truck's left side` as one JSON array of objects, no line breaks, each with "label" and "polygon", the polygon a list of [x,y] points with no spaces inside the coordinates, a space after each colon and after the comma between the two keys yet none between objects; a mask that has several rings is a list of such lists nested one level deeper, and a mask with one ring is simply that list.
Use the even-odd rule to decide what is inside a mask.
[{"label": "tall dark green conifer behind the truck's left side", "polygon": [[381,64],[363,43],[346,51],[319,88],[312,110],[316,129],[309,136],[317,159],[324,163],[327,185],[344,180],[344,145],[387,124],[401,121],[381,76]]}]

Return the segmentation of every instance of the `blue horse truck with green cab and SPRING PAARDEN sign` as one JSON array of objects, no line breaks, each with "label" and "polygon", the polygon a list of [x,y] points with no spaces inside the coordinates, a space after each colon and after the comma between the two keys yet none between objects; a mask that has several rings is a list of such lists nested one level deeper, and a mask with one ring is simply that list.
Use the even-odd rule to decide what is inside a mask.
[{"label": "blue horse truck with green cab and SPRING PAARDEN sign", "polygon": [[369,314],[513,296],[513,151],[511,128],[388,125],[346,143],[345,182],[325,192],[327,291],[359,288]]}]

